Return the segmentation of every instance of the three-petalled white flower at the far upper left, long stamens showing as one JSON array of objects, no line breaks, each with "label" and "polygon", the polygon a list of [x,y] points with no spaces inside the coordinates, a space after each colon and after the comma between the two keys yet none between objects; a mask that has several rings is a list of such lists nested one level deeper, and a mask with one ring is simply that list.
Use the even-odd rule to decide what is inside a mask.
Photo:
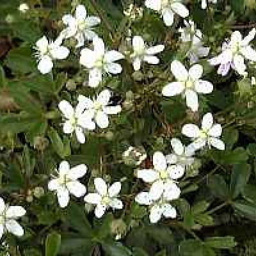
[{"label": "three-petalled white flower at the far upper left, long stamens showing", "polygon": [[36,58],[38,59],[38,70],[42,74],[51,72],[52,60],[64,60],[69,54],[67,47],[61,46],[63,38],[58,37],[54,42],[48,42],[43,36],[36,42]]}]

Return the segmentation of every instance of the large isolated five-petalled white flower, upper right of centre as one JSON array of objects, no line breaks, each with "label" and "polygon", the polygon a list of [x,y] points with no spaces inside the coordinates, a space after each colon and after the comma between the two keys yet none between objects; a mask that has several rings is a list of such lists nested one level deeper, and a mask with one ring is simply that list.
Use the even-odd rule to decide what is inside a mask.
[{"label": "large isolated five-petalled white flower, upper right of centre", "polygon": [[203,74],[203,67],[196,64],[187,71],[180,61],[175,60],[171,64],[171,70],[177,82],[172,82],[164,86],[163,95],[170,97],[182,94],[186,97],[187,106],[192,111],[197,111],[197,93],[211,93],[213,90],[213,86],[209,81],[200,79]]}]

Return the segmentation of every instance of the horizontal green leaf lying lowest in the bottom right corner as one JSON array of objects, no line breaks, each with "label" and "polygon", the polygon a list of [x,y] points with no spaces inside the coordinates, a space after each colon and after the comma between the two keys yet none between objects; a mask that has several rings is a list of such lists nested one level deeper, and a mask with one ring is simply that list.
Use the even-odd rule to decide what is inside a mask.
[{"label": "horizontal green leaf lying lowest in the bottom right corner", "polygon": [[216,249],[230,249],[236,246],[236,242],[232,236],[207,237],[204,244]]}]

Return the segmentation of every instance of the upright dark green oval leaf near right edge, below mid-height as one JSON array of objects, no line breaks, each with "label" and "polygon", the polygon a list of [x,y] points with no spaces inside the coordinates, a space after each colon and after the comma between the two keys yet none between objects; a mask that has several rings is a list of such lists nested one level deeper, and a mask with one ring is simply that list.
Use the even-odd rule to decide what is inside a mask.
[{"label": "upright dark green oval leaf near right edge, below mid-height", "polygon": [[251,173],[250,164],[236,164],[234,165],[231,182],[230,182],[230,193],[233,198],[236,198],[244,185],[248,182]]}]

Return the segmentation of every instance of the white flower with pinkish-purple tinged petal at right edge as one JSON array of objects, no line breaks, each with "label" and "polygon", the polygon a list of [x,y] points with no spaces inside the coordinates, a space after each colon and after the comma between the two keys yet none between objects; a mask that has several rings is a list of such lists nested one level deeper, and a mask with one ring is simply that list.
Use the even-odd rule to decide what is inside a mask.
[{"label": "white flower with pinkish-purple tinged petal at right edge", "polygon": [[247,74],[244,60],[256,61],[256,51],[249,45],[255,35],[255,28],[244,39],[239,31],[232,33],[231,40],[223,43],[221,54],[209,60],[211,65],[220,65],[218,74],[226,76],[230,67],[242,76]]}]

